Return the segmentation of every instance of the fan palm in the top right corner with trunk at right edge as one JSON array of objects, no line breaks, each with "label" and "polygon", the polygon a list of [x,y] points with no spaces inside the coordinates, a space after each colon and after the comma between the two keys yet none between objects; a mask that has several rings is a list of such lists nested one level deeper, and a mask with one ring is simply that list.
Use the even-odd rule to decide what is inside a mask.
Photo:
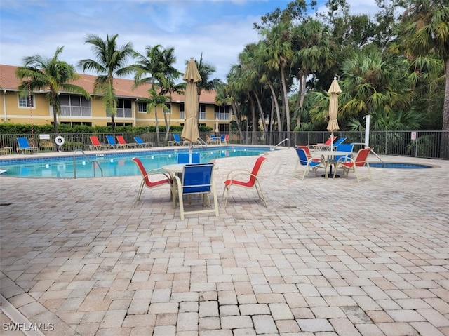
[{"label": "fan palm in the top right corner with trunk at right edge", "polygon": [[447,0],[405,0],[403,46],[408,55],[436,55],[444,62],[442,129],[449,131],[449,5]]}]

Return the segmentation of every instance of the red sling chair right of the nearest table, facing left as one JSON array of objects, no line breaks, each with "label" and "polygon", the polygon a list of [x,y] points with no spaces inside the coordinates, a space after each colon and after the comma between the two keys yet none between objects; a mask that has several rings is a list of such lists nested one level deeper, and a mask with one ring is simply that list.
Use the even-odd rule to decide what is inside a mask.
[{"label": "red sling chair right of the nearest table, facing left", "polygon": [[[259,156],[254,163],[253,170],[249,171],[244,169],[234,169],[227,174],[225,180],[225,189],[223,190],[222,194],[222,199],[225,198],[226,194],[225,207],[227,206],[227,199],[232,186],[245,187],[245,188],[255,187],[257,191],[257,196],[259,196],[259,199],[264,202],[264,206],[267,206],[267,202],[265,201],[262,187],[260,187],[259,184],[259,178],[257,177],[260,171],[260,167],[262,167],[262,163],[264,163],[265,160],[267,160],[266,157]],[[248,180],[241,180],[243,177],[248,178]]]}]

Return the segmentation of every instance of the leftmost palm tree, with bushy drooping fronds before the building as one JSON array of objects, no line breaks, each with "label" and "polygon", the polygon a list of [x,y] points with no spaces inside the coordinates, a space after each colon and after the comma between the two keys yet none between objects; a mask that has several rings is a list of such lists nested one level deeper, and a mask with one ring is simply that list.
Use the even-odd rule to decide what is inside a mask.
[{"label": "leftmost palm tree, with bushy drooping fronds before the building", "polygon": [[72,81],[79,79],[75,68],[67,62],[58,60],[64,47],[58,47],[53,58],[45,58],[41,55],[29,56],[24,59],[25,64],[18,67],[15,76],[22,81],[18,89],[23,95],[34,90],[48,90],[46,99],[53,107],[53,133],[58,134],[58,115],[61,113],[59,95],[60,91],[79,93],[90,100],[91,95],[81,86],[76,86]]}]

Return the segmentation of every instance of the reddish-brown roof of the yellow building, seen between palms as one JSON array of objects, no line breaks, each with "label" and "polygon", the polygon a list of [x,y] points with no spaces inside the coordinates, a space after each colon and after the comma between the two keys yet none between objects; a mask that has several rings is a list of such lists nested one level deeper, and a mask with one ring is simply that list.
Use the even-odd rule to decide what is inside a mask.
[{"label": "reddish-brown roof of the yellow building, seen between palms", "polygon": [[[15,70],[18,67],[15,67],[13,65],[0,65],[0,88],[1,90],[8,90],[8,91],[17,91],[18,86],[20,85],[20,80],[15,76]],[[97,76],[91,75],[91,74],[79,74],[81,76],[80,79],[77,79],[76,81],[73,81],[72,83],[81,86],[81,88],[84,88],[88,93],[93,95],[93,82],[95,81],[95,78]],[[137,88],[133,89],[134,81],[132,79],[120,79],[120,78],[114,78],[114,90],[116,95],[118,95],[121,98],[143,98],[148,97],[148,90],[151,87],[150,84],[145,84],[142,86],[138,86]],[[215,90],[210,92],[201,92],[200,95],[200,102],[203,103],[215,103]],[[173,93],[172,100],[174,102],[184,102],[185,96],[180,95],[178,93]]]}]

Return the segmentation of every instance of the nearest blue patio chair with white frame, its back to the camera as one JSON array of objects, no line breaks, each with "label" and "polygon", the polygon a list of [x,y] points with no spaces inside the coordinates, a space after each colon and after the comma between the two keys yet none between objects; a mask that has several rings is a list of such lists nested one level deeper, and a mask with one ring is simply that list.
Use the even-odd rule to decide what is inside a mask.
[{"label": "nearest blue patio chair with white frame, its back to the camera", "polygon": [[[215,213],[218,217],[218,199],[213,180],[213,163],[187,164],[182,170],[182,176],[175,175],[177,186],[177,197],[173,197],[173,208],[176,208],[176,199],[180,203],[181,220],[184,220],[185,214],[193,213]],[[213,208],[205,209],[210,206],[209,194],[213,194]],[[201,210],[197,210],[197,206],[192,206],[193,210],[185,210],[183,196],[199,195],[203,196],[203,205]]]}]

